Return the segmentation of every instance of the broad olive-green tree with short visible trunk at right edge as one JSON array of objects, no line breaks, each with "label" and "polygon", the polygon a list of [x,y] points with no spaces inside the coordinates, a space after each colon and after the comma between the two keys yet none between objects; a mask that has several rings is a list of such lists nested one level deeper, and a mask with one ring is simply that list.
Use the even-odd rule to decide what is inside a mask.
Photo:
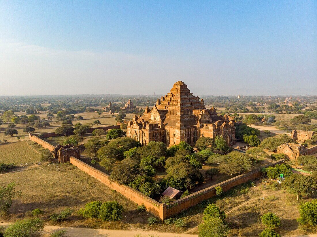
[{"label": "broad olive-green tree with short visible trunk at right edge", "polygon": [[290,193],[297,194],[297,200],[299,196],[311,196],[315,193],[317,188],[317,182],[313,177],[305,176],[301,174],[292,174],[285,178],[282,183],[282,187]]}]

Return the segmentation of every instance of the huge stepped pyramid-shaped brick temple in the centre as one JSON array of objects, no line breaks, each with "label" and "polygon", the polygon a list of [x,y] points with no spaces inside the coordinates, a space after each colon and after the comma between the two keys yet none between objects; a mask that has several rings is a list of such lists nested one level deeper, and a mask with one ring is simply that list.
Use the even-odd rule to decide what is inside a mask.
[{"label": "huge stepped pyramid-shaped brick temple in the centre", "polygon": [[235,122],[220,117],[216,109],[206,109],[204,100],[193,96],[187,85],[178,81],[171,91],[143,116],[135,115],[127,125],[127,136],[140,141],[161,141],[167,146],[185,141],[194,144],[198,138],[222,136],[229,145],[235,144]]}]

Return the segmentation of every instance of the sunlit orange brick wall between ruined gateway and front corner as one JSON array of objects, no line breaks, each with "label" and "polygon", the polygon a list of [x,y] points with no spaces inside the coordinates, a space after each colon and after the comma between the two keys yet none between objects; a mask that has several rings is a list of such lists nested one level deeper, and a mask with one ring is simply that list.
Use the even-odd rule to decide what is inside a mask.
[{"label": "sunlit orange brick wall between ruined gateway and front corner", "polygon": [[73,156],[70,157],[70,163],[77,166],[78,169],[86,172],[90,176],[98,179],[101,183],[106,184],[109,188],[121,193],[131,201],[138,203],[139,205],[144,204],[149,212],[151,212],[153,215],[159,217],[162,220],[164,219],[164,213],[166,213],[165,204],[161,204],[124,184],[118,184],[115,182],[111,183],[109,180],[109,175],[95,169],[90,165],[87,165],[85,162],[82,162],[81,160]]}]

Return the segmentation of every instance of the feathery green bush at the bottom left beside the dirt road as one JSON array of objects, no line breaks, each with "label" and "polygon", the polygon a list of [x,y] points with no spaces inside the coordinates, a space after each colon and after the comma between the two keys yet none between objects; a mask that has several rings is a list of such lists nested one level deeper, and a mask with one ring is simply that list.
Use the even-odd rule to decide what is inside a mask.
[{"label": "feathery green bush at the bottom left beside the dirt road", "polygon": [[10,225],[4,237],[31,237],[38,236],[44,230],[43,221],[39,218],[23,219]]}]

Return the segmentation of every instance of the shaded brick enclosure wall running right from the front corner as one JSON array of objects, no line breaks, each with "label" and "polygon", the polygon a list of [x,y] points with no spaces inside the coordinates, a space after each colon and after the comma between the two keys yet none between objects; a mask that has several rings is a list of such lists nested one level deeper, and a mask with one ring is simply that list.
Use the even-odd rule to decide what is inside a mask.
[{"label": "shaded brick enclosure wall running right from the front corner", "polygon": [[[275,161],[271,164],[265,165],[264,167],[268,166],[275,166],[277,164],[281,164],[284,162],[284,159]],[[175,202],[169,204],[166,206],[166,216],[165,218],[175,215],[183,210],[186,210],[192,206],[195,206],[196,204],[200,203],[203,200],[206,200],[212,196],[216,196],[216,187],[221,186],[223,191],[227,191],[230,188],[238,185],[248,182],[249,180],[260,178],[262,176],[261,169],[257,169],[254,171],[250,171],[248,173],[236,176],[234,178],[231,178],[227,181],[223,181],[221,183],[218,183],[216,185],[210,186],[208,188],[205,188],[203,190],[197,191],[195,193],[192,193],[191,195],[188,195],[186,197],[183,197],[181,199],[176,200]]]}]

